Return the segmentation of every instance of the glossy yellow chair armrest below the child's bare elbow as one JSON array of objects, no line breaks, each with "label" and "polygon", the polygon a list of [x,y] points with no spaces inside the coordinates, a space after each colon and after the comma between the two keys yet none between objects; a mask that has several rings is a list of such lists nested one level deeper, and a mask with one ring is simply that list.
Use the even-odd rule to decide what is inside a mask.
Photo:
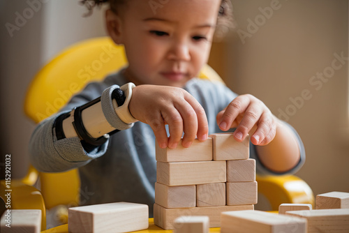
[{"label": "glossy yellow chair armrest below the child's bare elbow", "polygon": [[267,197],[272,211],[279,211],[283,203],[304,203],[314,206],[314,195],[309,185],[294,175],[256,176],[258,193]]}]

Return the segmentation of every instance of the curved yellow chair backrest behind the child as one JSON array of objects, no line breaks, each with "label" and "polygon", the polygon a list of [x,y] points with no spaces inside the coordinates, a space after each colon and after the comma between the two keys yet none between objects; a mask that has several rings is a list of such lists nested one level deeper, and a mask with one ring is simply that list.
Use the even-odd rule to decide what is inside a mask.
[{"label": "curved yellow chair backrest behind the child", "polygon": [[[102,80],[108,73],[126,64],[124,47],[115,45],[110,38],[94,38],[72,45],[34,77],[24,100],[24,112],[38,123],[66,105],[70,97],[81,91],[88,82]],[[208,65],[202,68],[199,77],[223,82]],[[31,167],[31,175],[36,173],[33,171]],[[79,202],[80,179],[77,170],[36,174],[40,176],[41,193],[47,209]],[[26,180],[29,180],[28,177]]]}]

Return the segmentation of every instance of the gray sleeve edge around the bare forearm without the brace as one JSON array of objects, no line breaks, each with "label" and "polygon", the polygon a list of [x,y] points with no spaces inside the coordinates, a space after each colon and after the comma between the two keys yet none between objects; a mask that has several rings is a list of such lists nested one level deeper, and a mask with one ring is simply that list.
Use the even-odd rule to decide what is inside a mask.
[{"label": "gray sleeve edge around the bare forearm without the brace", "polygon": [[[285,123],[285,122],[283,122]],[[255,149],[255,145],[253,145],[251,142],[251,146],[250,146],[250,158],[254,158],[255,159],[255,164],[256,164],[256,172],[257,174],[261,174],[261,175],[282,175],[282,174],[295,174],[295,172],[297,172],[305,163],[306,160],[306,153],[305,153],[305,149],[304,149],[304,144],[301,140],[301,137],[299,137],[297,131],[295,130],[295,128],[293,128],[292,126],[290,126],[289,123],[285,123],[286,126],[288,126],[293,133],[295,133],[296,139],[297,139],[297,143],[299,146],[299,153],[300,153],[300,158],[299,161],[297,163],[297,165],[295,165],[295,167],[292,167],[292,169],[286,171],[286,172],[273,172],[272,170],[269,170],[267,167],[265,167],[265,165],[263,165],[258,157],[258,153]]]}]

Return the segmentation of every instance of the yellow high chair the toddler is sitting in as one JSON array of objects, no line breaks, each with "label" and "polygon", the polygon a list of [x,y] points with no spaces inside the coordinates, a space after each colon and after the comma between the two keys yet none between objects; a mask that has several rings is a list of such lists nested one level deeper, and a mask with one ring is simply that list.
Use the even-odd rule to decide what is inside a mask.
[{"label": "yellow high chair the toddler is sitting in", "polygon": [[[94,38],[68,47],[34,77],[25,98],[25,113],[38,123],[63,107],[70,96],[82,90],[87,82],[102,80],[108,73],[126,66],[126,63],[124,47],[114,45],[109,38]],[[202,69],[199,77],[223,82],[208,65]],[[40,191],[33,187],[38,180]],[[258,176],[257,181],[258,192],[269,201],[270,210],[278,210],[281,203],[313,204],[311,189],[296,176]],[[53,174],[29,167],[27,176],[16,182],[17,188],[22,188],[23,195],[18,198],[13,196],[13,209],[41,209],[41,230],[46,227],[46,209],[59,205],[76,206],[79,203],[80,179],[77,170]],[[1,186],[4,185],[4,181],[1,181]],[[3,193],[0,196],[3,197]],[[59,218],[61,224],[67,223],[67,211],[61,212]]]}]

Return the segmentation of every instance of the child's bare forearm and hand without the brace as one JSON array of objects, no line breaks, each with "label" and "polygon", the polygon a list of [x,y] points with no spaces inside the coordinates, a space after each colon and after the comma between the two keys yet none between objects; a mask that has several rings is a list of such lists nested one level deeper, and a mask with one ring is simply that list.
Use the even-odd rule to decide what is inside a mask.
[{"label": "child's bare forearm and hand without the brace", "polygon": [[237,141],[244,140],[251,133],[258,157],[269,170],[288,172],[299,163],[295,133],[254,96],[238,96],[218,113],[216,119],[221,130],[236,128],[234,136]]}]

